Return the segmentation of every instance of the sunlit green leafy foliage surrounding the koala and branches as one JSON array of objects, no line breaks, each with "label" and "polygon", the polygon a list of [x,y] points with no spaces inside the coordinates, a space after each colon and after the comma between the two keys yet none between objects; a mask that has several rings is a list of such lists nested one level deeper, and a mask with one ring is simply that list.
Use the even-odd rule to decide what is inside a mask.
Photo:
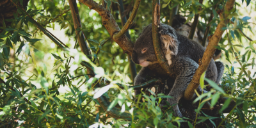
[{"label": "sunlit green leafy foliage surrounding the koala and branches", "polygon": [[[105,2],[121,26],[116,9],[119,5],[115,0]],[[161,6],[161,21],[168,24],[168,20],[172,19],[170,10],[179,5],[179,14],[187,18],[186,22],[191,22],[194,15],[200,13],[198,29],[204,32],[204,28],[211,24],[209,35],[212,35],[220,22],[217,12],[224,8],[225,2],[204,1],[200,4],[198,1],[167,0]],[[86,36],[92,52],[92,60],[89,60],[88,56],[79,52],[68,2],[30,0],[27,8],[24,8],[26,12],[70,49],[63,51],[57,47],[20,8],[14,13],[13,19],[4,20],[0,34],[0,77],[5,83],[0,83],[0,127],[180,127],[182,123],[194,127],[207,120],[212,127],[255,127],[256,46],[255,41],[249,41],[253,38],[252,33],[255,33],[251,27],[255,17],[251,19],[249,13],[244,15],[239,11],[254,10],[255,3],[250,3],[250,0],[245,2],[246,6],[250,4],[248,9],[241,7],[244,1],[237,2],[228,17],[231,22],[228,22],[227,28],[223,28],[227,33],[218,46],[223,51],[221,61],[226,67],[221,88],[205,79],[213,89],[207,93],[196,93],[198,97],[194,101],[199,101],[196,113],[204,116],[191,120],[174,117],[168,102],[168,109],[161,110],[160,102],[168,98],[166,95],[142,93],[137,97],[139,100],[134,100],[132,89],[125,86],[122,90],[117,86],[118,83],[132,84],[128,58],[115,42],[109,40],[111,37],[102,26],[97,12],[77,3],[82,22],[80,35]],[[124,3],[129,16],[134,1]],[[198,10],[199,6],[202,6],[202,10]],[[142,28],[152,22],[151,12],[152,1],[141,1],[134,25],[129,29],[133,42]],[[211,13],[214,17],[209,23]],[[6,26],[5,22],[12,24]],[[91,74],[87,74],[87,68],[80,65],[81,61],[92,66],[95,77],[89,77]],[[93,83],[100,86],[96,88]],[[204,77],[200,84],[204,87]],[[131,120],[108,115],[97,99],[101,95],[111,102],[107,110],[120,108],[118,113],[130,113]],[[221,117],[209,116],[201,111],[207,102],[211,103],[212,108],[216,107],[221,97],[227,98],[221,104]],[[228,115],[223,114],[227,109],[230,109]],[[216,118],[221,118],[221,124],[214,123]]]}]

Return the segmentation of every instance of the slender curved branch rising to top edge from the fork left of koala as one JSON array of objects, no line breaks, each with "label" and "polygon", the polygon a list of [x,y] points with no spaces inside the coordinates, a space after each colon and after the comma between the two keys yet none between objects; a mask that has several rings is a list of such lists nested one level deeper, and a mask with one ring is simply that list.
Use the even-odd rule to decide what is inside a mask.
[{"label": "slender curved branch rising to top edge from the fork left of koala", "polygon": [[119,31],[118,33],[116,33],[115,35],[113,35],[113,39],[118,39],[120,38],[120,36],[124,35],[126,31],[128,31],[129,27],[131,26],[137,11],[139,9],[140,6],[140,1],[141,0],[136,0],[134,6],[133,6],[133,10],[131,13],[131,16],[129,17],[129,19],[127,20],[127,22],[125,23],[125,25],[123,26],[123,28],[121,29],[121,31]]}]

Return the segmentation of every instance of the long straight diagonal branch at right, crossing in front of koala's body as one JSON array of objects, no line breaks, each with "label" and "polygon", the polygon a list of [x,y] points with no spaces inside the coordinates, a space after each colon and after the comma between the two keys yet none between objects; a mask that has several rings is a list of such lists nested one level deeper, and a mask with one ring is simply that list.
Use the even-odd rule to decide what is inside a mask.
[{"label": "long straight diagonal branch at right, crossing in front of koala's body", "polygon": [[227,19],[228,15],[230,14],[230,10],[232,10],[234,6],[235,0],[228,0],[225,5],[225,12],[220,14],[220,23],[218,24],[214,35],[211,36],[209,39],[209,44],[204,52],[204,56],[202,60],[199,60],[199,67],[197,68],[195,75],[193,76],[192,81],[189,83],[188,88],[184,93],[184,98],[187,100],[191,100],[193,97],[196,88],[199,86],[199,80],[202,76],[203,72],[207,70],[207,67],[212,59],[214,52],[216,51],[216,46],[218,42],[220,42],[220,38],[224,32],[223,28],[227,25],[229,19]]}]

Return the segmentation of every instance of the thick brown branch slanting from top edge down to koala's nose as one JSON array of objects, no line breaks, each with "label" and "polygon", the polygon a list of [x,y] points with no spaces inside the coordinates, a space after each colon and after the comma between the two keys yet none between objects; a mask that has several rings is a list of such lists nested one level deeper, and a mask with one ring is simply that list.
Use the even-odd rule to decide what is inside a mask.
[{"label": "thick brown branch slanting from top edge down to koala's nose", "polygon": [[[88,6],[91,10],[95,10],[99,13],[99,15],[102,17],[102,24],[107,29],[109,35],[113,38],[113,35],[115,33],[118,33],[120,31],[120,28],[116,24],[116,21],[113,17],[113,15],[104,8],[104,6],[98,5],[95,1],[89,1],[89,0],[79,0],[79,2],[85,4]],[[113,38],[113,40],[124,50],[125,53],[131,55],[132,54],[132,48],[133,44],[131,40],[125,36],[122,35],[120,38]]]}]

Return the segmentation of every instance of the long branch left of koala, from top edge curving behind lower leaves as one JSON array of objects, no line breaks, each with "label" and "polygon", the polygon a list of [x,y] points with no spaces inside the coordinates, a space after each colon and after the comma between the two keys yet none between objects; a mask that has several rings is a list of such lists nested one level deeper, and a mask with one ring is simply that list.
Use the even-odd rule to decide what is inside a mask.
[{"label": "long branch left of koala, from top edge curving behind lower leaves", "polygon": [[[72,12],[72,17],[73,17],[73,21],[74,21],[74,26],[76,28],[76,26],[79,26],[79,24],[81,24],[80,18],[79,18],[79,13],[78,13],[78,8],[77,8],[77,4],[76,4],[76,0],[68,0],[68,3],[70,4],[70,8],[71,8],[71,12]],[[78,41],[80,38],[80,42],[79,45],[81,47],[81,49],[88,49],[88,46],[86,45],[86,42],[84,40],[84,36],[80,36],[79,32],[76,32]],[[83,52],[86,56],[90,56],[90,52],[86,51]],[[87,74],[92,74],[89,77],[93,77],[95,76],[93,70],[91,69],[87,69]],[[99,83],[96,83],[95,85],[96,87],[99,87]],[[107,111],[108,106],[109,106],[109,102],[108,99],[106,99],[106,97],[104,97],[103,95],[101,97],[98,98],[100,106],[104,109],[104,111],[106,111],[109,115],[113,116],[114,118],[131,118],[131,115],[129,113],[122,113],[120,114],[120,109],[118,108],[113,108],[110,111]]]}]

